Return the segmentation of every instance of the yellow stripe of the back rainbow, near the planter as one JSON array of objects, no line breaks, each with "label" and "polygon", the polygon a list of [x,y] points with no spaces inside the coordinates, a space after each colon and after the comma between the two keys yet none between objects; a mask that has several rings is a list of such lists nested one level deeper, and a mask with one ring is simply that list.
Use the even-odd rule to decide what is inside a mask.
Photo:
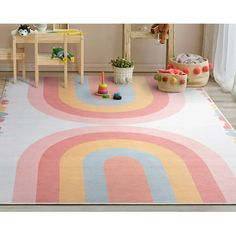
[{"label": "yellow stripe of the back rainbow, near the planter", "polygon": [[[97,81],[94,80],[94,83]],[[150,91],[150,87],[145,79],[145,77],[135,77],[134,82],[132,83],[135,94],[137,95],[131,103],[121,104],[117,106],[97,106],[93,104],[88,104],[83,101],[80,101],[76,97],[76,89],[74,85],[74,80],[68,81],[68,88],[64,89],[59,87],[59,98],[67,105],[79,108],[86,111],[98,111],[102,110],[102,112],[125,112],[125,111],[133,111],[137,109],[141,109],[147,107],[153,101],[153,95]],[[125,94],[124,94],[125,96]]]}]

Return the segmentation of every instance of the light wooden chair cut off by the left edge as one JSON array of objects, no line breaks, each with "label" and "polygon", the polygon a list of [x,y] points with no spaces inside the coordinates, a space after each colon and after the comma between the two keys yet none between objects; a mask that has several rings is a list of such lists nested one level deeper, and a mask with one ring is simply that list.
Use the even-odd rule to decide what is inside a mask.
[{"label": "light wooden chair cut off by the left edge", "polygon": [[[0,60],[1,61],[12,61],[13,60],[12,49],[0,48]],[[18,61],[22,62],[22,77],[23,77],[23,79],[25,79],[26,78],[26,70],[25,70],[25,53],[24,53],[24,49],[18,49],[18,51],[16,53],[16,61],[17,62]],[[18,69],[17,69],[17,71],[18,71]]]}]

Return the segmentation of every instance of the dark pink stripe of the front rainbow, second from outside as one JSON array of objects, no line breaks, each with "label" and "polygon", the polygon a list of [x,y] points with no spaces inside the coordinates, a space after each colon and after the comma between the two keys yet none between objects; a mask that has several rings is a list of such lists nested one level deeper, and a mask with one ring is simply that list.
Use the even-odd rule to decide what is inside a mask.
[{"label": "dark pink stripe of the front rainbow, second from outside", "polygon": [[96,133],[78,135],[51,146],[39,163],[37,202],[59,201],[59,165],[64,152],[73,146],[94,140],[109,139],[141,140],[172,150],[179,155],[188,167],[203,202],[225,202],[224,196],[216,184],[206,164],[192,150],[173,141],[139,133]]}]

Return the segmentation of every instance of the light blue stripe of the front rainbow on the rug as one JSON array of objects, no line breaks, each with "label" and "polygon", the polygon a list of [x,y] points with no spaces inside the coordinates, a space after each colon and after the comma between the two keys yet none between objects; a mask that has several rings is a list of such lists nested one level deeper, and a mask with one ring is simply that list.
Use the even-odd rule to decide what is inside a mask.
[{"label": "light blue stripe of the front rainbow on the rug", "polygon": [[128,156],[141,163],[154,203],[176,202],[161,161],[147,152],[126,148],[102,149],[85,158],[83,165],[87,202],[109,202],[103,167],[104,162],[114,156]]}]

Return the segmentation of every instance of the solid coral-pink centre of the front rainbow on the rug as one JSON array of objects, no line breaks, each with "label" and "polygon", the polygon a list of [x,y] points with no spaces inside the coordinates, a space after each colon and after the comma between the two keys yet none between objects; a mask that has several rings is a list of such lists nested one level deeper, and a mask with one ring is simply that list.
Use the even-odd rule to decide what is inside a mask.
[{"label": "solid coral-pink centre of the front rainbow on the rug", "polygon": [[104,172],[109,202],[153,202],[143,167],[137,160],[113,157],[105,161]]}]

